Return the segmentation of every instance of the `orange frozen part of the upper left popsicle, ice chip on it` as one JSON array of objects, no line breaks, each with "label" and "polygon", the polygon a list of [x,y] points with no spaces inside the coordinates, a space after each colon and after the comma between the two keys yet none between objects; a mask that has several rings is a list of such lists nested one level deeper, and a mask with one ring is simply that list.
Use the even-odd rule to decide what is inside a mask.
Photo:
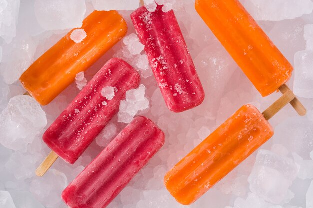
[{"label": "orange frozen part of the upper left popsicle, ice chip on it", "polygon": [[93,11],[83,20],[87,36],[75,43],[72,31],[40,56],[20,77],[20,81],[41,105],[51,102],[127,32],[127,24],[117,11]]}]

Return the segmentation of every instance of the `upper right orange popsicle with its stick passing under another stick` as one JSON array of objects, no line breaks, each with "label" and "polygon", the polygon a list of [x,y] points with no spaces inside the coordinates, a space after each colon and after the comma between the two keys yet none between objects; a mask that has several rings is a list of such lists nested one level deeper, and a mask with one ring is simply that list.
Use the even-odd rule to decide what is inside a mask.
[{"label": "upper right orange popsicle with its stick passing under another stick", "polygon": [[[293,67],[238,0],[196,0],[195,8],[262,96],[289,90]],[[305,115],[297,98],[290,104]]]}]

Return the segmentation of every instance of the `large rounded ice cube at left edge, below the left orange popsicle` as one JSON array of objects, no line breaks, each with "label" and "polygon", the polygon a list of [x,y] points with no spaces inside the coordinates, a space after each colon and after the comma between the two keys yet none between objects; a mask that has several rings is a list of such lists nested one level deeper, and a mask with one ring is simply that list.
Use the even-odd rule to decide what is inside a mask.
[{"label": "large rounded ice cube at left edge, below the left orange popsicle", "polygon": [[0,143],[12,150],[25,152],[27,144],[33,142],[46,124],[45,112],[34,98],[15,96],[0,114]]}]

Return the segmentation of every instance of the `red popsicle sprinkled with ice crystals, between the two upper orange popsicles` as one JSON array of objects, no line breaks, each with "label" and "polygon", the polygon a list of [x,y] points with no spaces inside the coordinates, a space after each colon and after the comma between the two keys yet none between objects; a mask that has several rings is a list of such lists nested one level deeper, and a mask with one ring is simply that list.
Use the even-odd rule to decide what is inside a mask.
[{"label": "red popsicle sprinkled with ice crystals, between the two upper orange popsicles", "polygon": [[131,14],[140,42],[169,110],[182,112],[203,102],[204,90],[172,10],[144,6]]}]

